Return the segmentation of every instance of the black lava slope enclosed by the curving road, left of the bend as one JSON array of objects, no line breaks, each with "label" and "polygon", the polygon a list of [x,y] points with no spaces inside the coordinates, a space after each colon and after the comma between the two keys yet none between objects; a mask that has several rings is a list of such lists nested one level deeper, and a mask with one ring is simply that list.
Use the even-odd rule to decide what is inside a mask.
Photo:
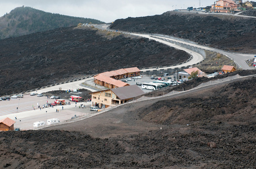
[{"label": "black lava slope enclosed by the curving road, left of the bend", "polygon": [[147,38],[88,26],[0,40],[0,95],[134,66],[182,63],[189,54]]}]

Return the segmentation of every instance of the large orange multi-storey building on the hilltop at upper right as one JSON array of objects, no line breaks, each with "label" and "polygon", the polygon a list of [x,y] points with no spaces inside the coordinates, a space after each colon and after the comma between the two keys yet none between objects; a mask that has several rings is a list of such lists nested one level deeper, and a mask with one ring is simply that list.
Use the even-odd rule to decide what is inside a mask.
[{"label": "large orange multi-storey building on the hilltop at upper right", "polygon": [[212,5],[211,12],[221,12],[221,13],[232,13],[233,11],[239,11],[238,5],[232,0],[220,0],[216,1]]}]

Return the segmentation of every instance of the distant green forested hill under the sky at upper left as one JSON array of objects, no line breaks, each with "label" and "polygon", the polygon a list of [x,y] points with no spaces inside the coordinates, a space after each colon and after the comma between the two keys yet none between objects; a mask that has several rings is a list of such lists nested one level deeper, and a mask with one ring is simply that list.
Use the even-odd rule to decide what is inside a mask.
[{"label": "distant green forested hill under the sky at upper left", "polygon": [[103,24],[96,19],[52,14],[31,7],[17,7],[0,17],[0,39],[75,26],[79,23]]}]

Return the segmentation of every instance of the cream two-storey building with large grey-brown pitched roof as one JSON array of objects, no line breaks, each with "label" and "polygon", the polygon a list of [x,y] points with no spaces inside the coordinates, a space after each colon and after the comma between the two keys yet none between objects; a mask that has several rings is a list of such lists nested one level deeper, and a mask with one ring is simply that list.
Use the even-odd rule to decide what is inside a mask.
[{"label": "cream two-storey building with large grey-brown pitched roof", "polygon": [[123,104],[143,94],[144,92],[136,85],[110,88],[108,90],[90,93],[92,95],[92,106],[99,106],[99,108],[108,108],[110,105]]}]

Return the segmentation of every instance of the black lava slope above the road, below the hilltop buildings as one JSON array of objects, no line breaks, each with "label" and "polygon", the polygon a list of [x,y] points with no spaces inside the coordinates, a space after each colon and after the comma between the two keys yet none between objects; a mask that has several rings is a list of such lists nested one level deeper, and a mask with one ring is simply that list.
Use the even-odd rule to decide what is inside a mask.
[{"label": "black lava slope above the road, below the hilltop buildings", "polygon": [[172,35],[221,50],[254,54],[255,25],[254,18],[172,11],[162,15],[118,19],[110,25],[110,29]]}]

